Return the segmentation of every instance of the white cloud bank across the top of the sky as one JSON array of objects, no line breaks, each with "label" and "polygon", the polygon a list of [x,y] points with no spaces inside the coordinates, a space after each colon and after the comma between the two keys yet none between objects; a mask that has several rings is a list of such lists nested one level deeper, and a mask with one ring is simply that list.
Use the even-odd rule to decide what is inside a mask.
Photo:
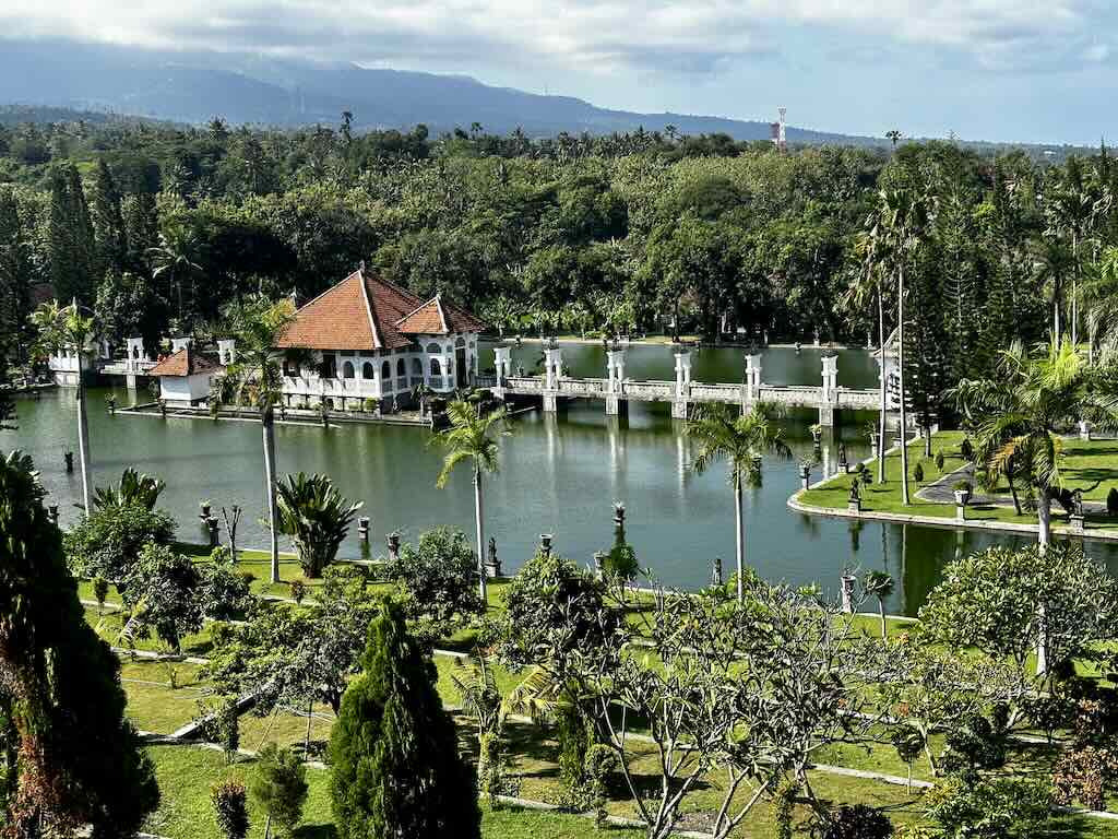
[{"label": "white cloud bank across the top of the sky", "polygon": [[[1099,62],[1103,0],[3,0],[9,37],[260,49],[358,62],[508,58],[707,72],[788,27],[957,50],[989,68]],[[1112,22],[1112,21],[1111,21]],[[853,53],[852,53],[853,54]]]}]

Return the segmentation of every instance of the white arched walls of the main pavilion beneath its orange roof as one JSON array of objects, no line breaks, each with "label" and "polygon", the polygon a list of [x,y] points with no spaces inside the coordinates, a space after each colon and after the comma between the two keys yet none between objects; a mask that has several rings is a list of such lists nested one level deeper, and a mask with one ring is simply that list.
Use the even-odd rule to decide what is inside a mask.
[{"label": "white arched walls of the main pavilion beneath its orange roof", "polygon": [[338,411],[377,399],[400,406],[423,384],[448,394],[474,384],[479,369],[477,333],[418,336],[415,345],[396,350],[313,350],[310,365],[283,364],[284,403],[315,407],[322,402]]}]

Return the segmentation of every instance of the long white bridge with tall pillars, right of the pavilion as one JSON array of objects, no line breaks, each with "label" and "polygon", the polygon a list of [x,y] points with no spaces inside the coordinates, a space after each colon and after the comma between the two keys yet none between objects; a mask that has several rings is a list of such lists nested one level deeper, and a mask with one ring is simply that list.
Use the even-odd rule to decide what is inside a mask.
[{"label": "long white bridge with tall pillars, right of the pavilion", "polygon": [[555,345],[543,350],[543,373],[538,376],[512,375],[512,359],[508,347],[493,350],[495,376],[479,377],[477,384],[492,388],[498,398],[506,396],[539,396],[543,409],[558,409],[562,399],[600,399],[606,414],[618,414],[631,400],[669,402],[672,416],[685,418],[692,404],[723,403],[748,411],[757,403],[771,403],[786,407],[817,408],[819,424],[835,423],[836,411],[878,411],[878,389],[839,386],[839,358],[823,357],[822,383],[811,385],[766,385],[761,381],[760,355],[747,353],[746,380],[742,384],[719,384],[691,380],[691,353],[675,352],[675,380],[634,380],[625,377],[625,350],[606,352],[606,378],[574,378],[563,374],[562,350]]}]

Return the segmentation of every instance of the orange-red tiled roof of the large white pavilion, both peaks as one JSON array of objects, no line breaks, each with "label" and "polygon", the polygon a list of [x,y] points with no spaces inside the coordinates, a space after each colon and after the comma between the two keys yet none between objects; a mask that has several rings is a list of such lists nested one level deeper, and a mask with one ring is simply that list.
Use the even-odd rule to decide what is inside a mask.
[{"label": "orange-red tiled roof of the large white pavilion, both peaks", "polygon": [[[437,329],[416,326],[437,326]],[[476,331],[481,331],[481,323],[468,312],[440,303],[438,298],[424,303],[411,292],[358,268],[301,308],[278,346],[319,350],[397,349],[410,346],[411,334]]]}]

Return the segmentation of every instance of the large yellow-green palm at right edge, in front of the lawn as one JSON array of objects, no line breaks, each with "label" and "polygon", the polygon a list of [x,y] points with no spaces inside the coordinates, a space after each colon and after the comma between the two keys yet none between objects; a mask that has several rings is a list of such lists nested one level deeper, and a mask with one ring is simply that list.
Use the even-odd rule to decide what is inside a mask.
[{"label": "large yellow-green palm at right edge, in front of the lawn", "polygon": [[1118,394],[1087,365],[1070,340],[1033,355],[1020,342],[1003,350],[992,379],[964,380],[951,389],[974,428],[975,462],[987,484],[1007,471],[1036,490],[1038,540],[1051,541],[1051,502],[1063,490],[1063,432],[1081,418],[1118,427]]}]

